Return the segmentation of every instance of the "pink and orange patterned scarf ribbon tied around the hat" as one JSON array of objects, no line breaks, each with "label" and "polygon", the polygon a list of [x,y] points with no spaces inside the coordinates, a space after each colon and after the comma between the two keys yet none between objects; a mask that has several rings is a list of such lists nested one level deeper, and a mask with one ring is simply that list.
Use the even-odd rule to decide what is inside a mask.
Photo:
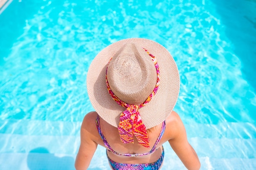
[{"label": "pink and orange patterned scarf ribbon tied around the hat", "polygon": [[139,114],[139,108],[145,106],[152,99],[152,97],[157,93],[157,89],[159,86],[159,65],[157,63],[155,56],[150,54],[146,49],[144,50],[148,53],[148,55],[150,55],[151,59],[155,64],[155,68],[157,71],[157,83],[155,85],[153,92],[148,96],[145,102],[139,105],[132,105],[132,104],[127,104],[121,101],[110,89],[110,86],[108,83],[108,77],[107,77],[108,66],[106,69],[106,84],[108,88],[108,93],[115,100],[115,102],[117,102],[117,104],[119,104],[120,106],[123,106],[124,108],[126,108],[126,110],[124,110],[124,112],[121,113],[120,115],[120,121],[118,126],[118,131],[119,131],[121,141],[124,144],[133,143],[134,142],[133,136],[135,135],[137,137],[139,144],[141,144],[142,146],[145,146],[146,148],[149,148],[149,138],[148,138],[146,126],[143,124],[141,120],[141,116]]}]

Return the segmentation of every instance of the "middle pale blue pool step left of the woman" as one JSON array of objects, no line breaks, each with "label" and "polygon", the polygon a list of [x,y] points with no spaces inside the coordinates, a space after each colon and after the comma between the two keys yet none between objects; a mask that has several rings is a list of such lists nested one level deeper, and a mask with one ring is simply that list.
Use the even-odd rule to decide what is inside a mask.
[{"label": "middle pale blue pool step left of the woman", "polygon": [[0,153],[29,153],[36,148],[46,148],[55,154],[76,154],[79,136],[0,134]]}]

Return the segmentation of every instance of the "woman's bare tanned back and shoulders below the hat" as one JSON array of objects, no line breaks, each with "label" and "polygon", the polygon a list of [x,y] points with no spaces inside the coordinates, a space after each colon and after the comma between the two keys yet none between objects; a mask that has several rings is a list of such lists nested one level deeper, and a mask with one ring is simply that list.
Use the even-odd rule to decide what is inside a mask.
[{"label": "woman's bare tanned back and shoulders below the hat", "polygon": [[[88,113],[85,116],[82,128],[86,129],[87,132],[88,131],[91,132],[91,136],[93,136],[93,140],[97,144],[107,148],[103,140],[101,139],[101,136],[99,135],[99,132],[97,129],[97,124],[96,124],[97,116],[98,114],[96,112]],[[118,153],[136,154],[136,153],[150,152],[150,150],[152,150],[153,146],[155,145],[155,142],[162,130],[162,124],[159,124],[148,131],[148,136],[150,139],[150,148],[146,148],[144,146],[141,146],[141,144],[138,143],[138,141],[136,140],[136,137],[134,137],[134,144],[122,143],[120,140],[119,132],[116,127],[108,124],[106,121],[104,121],[100,117],[99,117],[99,122],[100,122],[101,132],[106,138],[106,141],[111,146],[111,148]],[[122,163],[145,163],[145,162],[157,161],[157,159],[160,157],[162,153],[162,144],[164,144],[166,141],[173,139],[177,134],[177,130],[179,130],[179,127],[183,126],[179,116],[174,111],[168,116],[165,122],[166,122],[165,132],[161,140],[159,141],[159,144],[157,145],[157,150],[152,154],[139,156],[139,157],[127,157],[127,156],[117,155],[110,151],[107,151],[108,156],[113,161],[122,162]]]}]

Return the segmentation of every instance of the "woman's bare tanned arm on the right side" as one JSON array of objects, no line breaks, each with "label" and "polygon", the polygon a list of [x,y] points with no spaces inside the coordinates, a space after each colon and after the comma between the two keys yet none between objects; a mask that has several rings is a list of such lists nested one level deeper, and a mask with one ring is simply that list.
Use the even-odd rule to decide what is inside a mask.
[{"label": "woman's bare tanned arm on the right side", "polygon": [[201,164],[198,155],[187,140],[186,130],[182,120],[174,111],[171,114],[174,117],[171,122],[174,125],[172,127],[175,128],[173,129],[174,136],[169,140],[169,144],[188,170],[199,170]]}]

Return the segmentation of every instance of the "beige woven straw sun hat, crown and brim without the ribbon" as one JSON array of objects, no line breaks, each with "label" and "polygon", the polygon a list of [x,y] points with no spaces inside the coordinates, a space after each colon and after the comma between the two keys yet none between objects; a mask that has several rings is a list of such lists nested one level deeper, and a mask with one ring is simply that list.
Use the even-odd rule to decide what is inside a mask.
[{"label": "beige woven straw sun hat, crown and brim without the ribbon", "polygon": [[162,123],[177,102],[179,72],[164,46],[143,38],[120,40],[107,46],[94,58],[87,75],[87,90],[92,106],[112,126],[118,127],[120,114],[126,108],[117,104],[108,92],[107,66],[107,79],[112,92],[127,104],[141,104],[153,92],[157,82],[155,64],[145,49],[155,56],[159,65],[157,93],[150,102],[139,108],[146,128]]}]

